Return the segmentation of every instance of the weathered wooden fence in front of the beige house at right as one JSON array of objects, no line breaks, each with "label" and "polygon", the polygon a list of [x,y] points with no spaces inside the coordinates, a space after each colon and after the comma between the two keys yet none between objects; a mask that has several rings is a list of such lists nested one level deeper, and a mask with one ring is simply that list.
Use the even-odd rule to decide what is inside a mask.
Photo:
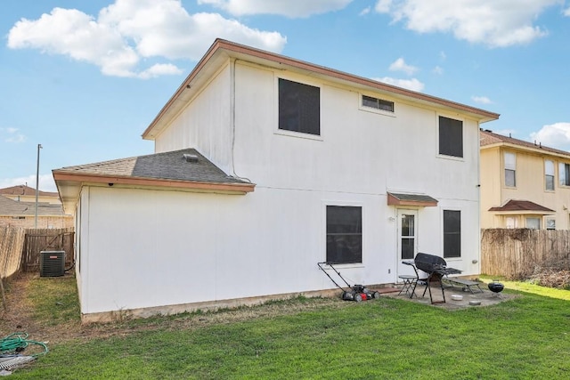
[{"label": "weathered wooden fence in front of the beige house at right", "polygon": [[570,230],[481,230],[481,273],[527,279],[545,263],[570,263]]}]

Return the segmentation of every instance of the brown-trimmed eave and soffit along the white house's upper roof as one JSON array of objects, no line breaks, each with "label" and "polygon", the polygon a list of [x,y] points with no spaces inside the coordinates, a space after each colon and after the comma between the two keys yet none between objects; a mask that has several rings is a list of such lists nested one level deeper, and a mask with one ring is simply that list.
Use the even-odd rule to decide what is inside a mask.
[{"label": "brown-trimmed eave and soffit along the white house's upper roof", "polygon": [[430,96],[425,93],[418,93],[395,85],[387,85],[370,78],[358,77],[336,69],[329,69],[324,66],[315,65],[306,61],[299,61],[281,54],[270,53],[243,44],[236,44],[223,39],[216,39],[210,46],[208,52],[198,62],[196,67],[186,77],[183,84],[178,87],[175,94],[167,101],[167,104],[160,110],[159,115],[152,120],[151,125],[142,133],[143,139],[154,140],[159,132],[164,129],[179,111],[186,106],[188,101],[200,89],[206,85],[217,70],[227,64],[227,61],[240,60],[257,63],[265,68],[278,70],[289,70],[311,77],[320,77],[329,82],[339,85],[348,85],[352,88],[372,91],[375,93],[385,93],[402,101],[420,103],[424,106],[448,111],[460,111],[464,115],[476,118],[481,123],[499,118],[499,114],[478,109],[455,101],[447,101],[442,98]]}]

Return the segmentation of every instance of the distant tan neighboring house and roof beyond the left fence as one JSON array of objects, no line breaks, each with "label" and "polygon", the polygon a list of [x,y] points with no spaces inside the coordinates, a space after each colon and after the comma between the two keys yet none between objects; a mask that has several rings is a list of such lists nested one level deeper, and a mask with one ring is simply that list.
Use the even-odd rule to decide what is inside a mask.
[{"label": "distant tan neighboring house and roof beyond the left fence", "polygon": [[[37,194],[37,228],[73,227],[73,215],[64,214],[56,192]],[[36,190],[25,185],[0,189],[0,227],[35,228]]]}]

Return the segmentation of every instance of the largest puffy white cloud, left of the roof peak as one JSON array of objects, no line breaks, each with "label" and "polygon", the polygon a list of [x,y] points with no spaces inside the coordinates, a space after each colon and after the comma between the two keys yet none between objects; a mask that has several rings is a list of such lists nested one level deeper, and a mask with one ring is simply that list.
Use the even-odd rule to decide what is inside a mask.
[{"label": "largest puffy white cloud, left of the roof peak", "polygon": [[116,0],[97,19],[62,8],[37,20],[22,19],[10,30],[8,47],[65,55],[108,76],[149,78],[182,69],[166,62],[142,68],[143,58],[197,61],[216,37],[273,52],[287,42],[277,32],[248,28],[217,13],[189,14],[180,0]]}]

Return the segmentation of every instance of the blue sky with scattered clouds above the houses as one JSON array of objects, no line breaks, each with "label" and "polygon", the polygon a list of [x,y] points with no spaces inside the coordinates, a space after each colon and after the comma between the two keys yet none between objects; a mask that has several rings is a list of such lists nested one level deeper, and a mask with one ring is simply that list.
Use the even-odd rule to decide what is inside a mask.
[{"label": "blue sky with scattered clouds above the houses", "polygon": [[153,152],[141,133],[216,37],[501,114],[570,150],[570,0],[4,0],[0,188]]}]

